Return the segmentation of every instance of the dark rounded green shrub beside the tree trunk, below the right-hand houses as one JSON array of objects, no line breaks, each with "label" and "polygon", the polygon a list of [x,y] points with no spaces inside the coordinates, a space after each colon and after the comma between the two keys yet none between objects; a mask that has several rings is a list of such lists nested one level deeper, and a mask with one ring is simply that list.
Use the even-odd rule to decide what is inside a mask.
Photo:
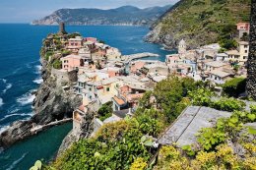
[{"label": "dark rounded green shrub beside the tree trunk, below the right-hand houses", "polygon": [[233,78],[223,85],[224,94],[229,97],[238,97],[240,93],[245,91],[246,79]]}]

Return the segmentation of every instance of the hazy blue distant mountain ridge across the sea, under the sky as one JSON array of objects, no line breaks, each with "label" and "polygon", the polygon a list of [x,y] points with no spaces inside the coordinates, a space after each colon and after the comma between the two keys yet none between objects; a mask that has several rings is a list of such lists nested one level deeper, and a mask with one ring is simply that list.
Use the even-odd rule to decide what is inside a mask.
[{"label": "hazy blue distant mountain ridge across the sea, under the sky", "polygon": [[32,25],[110,25],[110,26],[150,26],[163,15],[171,5],[140,9],[134,6],[122,6],[116,9],[60,9]]}]

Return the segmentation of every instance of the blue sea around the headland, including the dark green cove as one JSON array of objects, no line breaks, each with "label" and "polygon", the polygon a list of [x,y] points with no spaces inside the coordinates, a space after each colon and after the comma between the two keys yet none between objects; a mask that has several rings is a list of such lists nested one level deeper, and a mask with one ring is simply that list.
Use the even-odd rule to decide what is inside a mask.
[{"label": "blue sea around the headland, including the dark green cove", "polygon": [[[119,48],[122,54],[152,52],[164,61],[170,53],[160,45],[144,42],[149,29],[144,27],[70,26],[68,32],[94,36]],[[32,117],[32,91],[40,78],[39,50],[42,39],[58,27],[0,24],[0,132],[17,120]],[[71,124],[54,127],[0,152],[0,170],[29,169],[37,159],[49,161],[71,130]]]}]

